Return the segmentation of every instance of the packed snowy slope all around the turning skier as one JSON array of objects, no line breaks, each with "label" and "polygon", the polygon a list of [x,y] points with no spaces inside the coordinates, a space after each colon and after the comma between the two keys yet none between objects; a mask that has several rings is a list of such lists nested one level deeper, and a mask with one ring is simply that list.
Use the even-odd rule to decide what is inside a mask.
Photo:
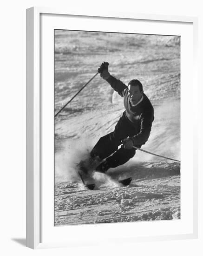
[{"label": "packed snowy slope all around the turning skier", "polygon": [[[180,38],[55,30],[55,113],[109,62],[112,75],[142,82],[155,110],[142,147],[180,160]],[[113,131],[123,98],[98,75],[55,118],[55,225],[180,218],[180,164],[137,151],[87,190],[77,175],[100,136]],[[115,180],[132,177],[128,187]]]}]

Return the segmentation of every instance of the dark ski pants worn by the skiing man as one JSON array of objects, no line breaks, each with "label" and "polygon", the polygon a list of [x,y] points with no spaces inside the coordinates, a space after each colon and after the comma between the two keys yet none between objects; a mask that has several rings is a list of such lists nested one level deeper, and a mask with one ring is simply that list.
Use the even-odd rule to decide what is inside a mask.
[{"label": "dark ski pants worn by the skiing man", "polygon": [[[118,149],[118,146],[121,145],[122,140],[128,136],[132,137],[136,134],[138,134],[138,129],[136,129],[123,114],[116,124],[115,130],[101,137],[92,149],[90,155],[92,157],[98,155],[102,160],[106,158],[108,166],[111,168],[122,165],[135,155],[136,149],[125,149],[123,146]],[[135,146],[141,148],[141,145]]]}]

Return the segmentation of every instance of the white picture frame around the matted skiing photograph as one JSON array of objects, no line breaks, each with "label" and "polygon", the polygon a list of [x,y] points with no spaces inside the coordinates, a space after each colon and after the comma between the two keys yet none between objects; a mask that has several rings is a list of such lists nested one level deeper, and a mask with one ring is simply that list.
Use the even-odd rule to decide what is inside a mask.
[{"label": "white picture frame around the matted skiing photograph", "polygon": [[[193,47],[190,48],[189,54],[192,58],[192,67],[193,67],[193,74],[190,75],[190,78],[193,80],[193,91],[196,90],[197,85],[197,18],[196,17],[183,17],[183,16],[164,16],[164,15],[150,15],[150,14],[137,14],[137,13],[92,13],[89,11],[88,13],[82,13],[80,11],[73,12],[70,10],[60,10],[60,9],[52,9],[52,8],[44,8],[44,7],[32,7],[26,10],[26,246],[32,249],[39,249],[39,248],[50,248],[50,247],[60,247],[60,246],[79,246],[79,245],[95,245],[99,243],[99,239],[94,240],[93,237],[91,238],[91,233],[95,231],[95,225],[83,225],[81,226],[72,226],[72,227],[65,227],[65,229],[70,229],[72,232],[72,239],[70,240],[55,240],[54,236],[52,238],[47,238],[46,242],[42,240],[42,226],[43,226],[43,201],[42,200],[42,191],[44,187],[44,183],[42,182],[43,177],[43,155],[42,153],[42,106],[44,98],[42,97],[43,88],[42,84],[42,74],[40,72],[40,54],[42,50],[40,37],[43,33],[41,29],[41,22],[42,22],[42,15],[46,14],[49,15],[51,19],[54,16],[60,17],[73,17],[74,19],[79,19],[81,17],[92,17],[95,19],[102,18],[105,20],[111,19],[114,22],[117,20],[124,20],[125,22],[133,21],[133,20],[140,20],[140,21],[147,21],[147,22],[165,22],[165,23],[174,23],[174,24],[185,24],[185,26],[190,25],[192,26],[193,30]],[[44,20],[43,20],[44,22]],[[53,22],[54,23],[54,22]],[[77,26],[82,26],[80,21],[78,21]],[[59,27],[58,27],[59,28]],[[76,29],[77,30],[77,29]],[[83,28],[81,27],[81,30]],[[51,43],[51,42],[50,42]],[[182,58],[184,51],[182,51]],[[53,70],[52,70],[53,72]],[[52,76],[52,74],[51,74]],[[185,94],[185,100],[188,94]],[[50,99],[52,101],[52,99]],[[183,100],[183,103],[185,102]],[[195,105],[195,101],[193,98],[190,98],[190,101],[193,101]],[[48,101],[47,101],[48,102]],[[49,103],[48,103],[49,104]],[[51,107],[52,109],[52,107]],[[44,111],[44,110],[43,110]],[[46,111],[46,110],[45,110]],[[192,111],[194,111],[194,106]],[[194,113],[194,112],[192,112]],[[182,113],[182,116],[184,111]],[[51,110],[51,116],[53,115],[53,111]],[[51,117],[52,118],[52,117]],[[197,137],[196,137],[196,130],[197,130],[197,116],[194,113],[194,137],[190,141],[191,144],[194,145],[196,148],[197,145]],[[53,130],[53,128],[51,128]],[[52,131],[51,131],[52,132]],[[44,145],[44,142],[43,142]],[[186,144],[185,144],[186,145]],[[184,148],[184,145],[182,145]],[[183,154],[184,156],[184,154]],[[113,239],[109,240],[109,243],[119,243],[122,242],[136,242],[136,241],[157,241],[157,240],[171,240],[171,239],[185,239],[185,238],[197,238],[198,234],[198,214],[197,214],[197,201],[198,201],[198,187],[197,187],[197,175],[198,175],[198,168],[197,168],[197,152],[193,150],[193,159],[190,162],[193,168],[193,175],[192,175],[192,188],[193,188],[193,195],[191,198],[191,204],[193,205],[191,209],[191,227],[190,232],[182,232],[176,234],[164,234],[164,235],[149,235],[149,236],[142,236],[142,234],[129,234],[129,236],[121,235],[118,233],[119,225],[123,224],[108,224],[110,229],[114,230]],[[191,177],[189,177],[191,178]],[[51,185],[51,184],[49,184]],[[184,185],[184,184],[183,184]],[[43,202],[42,202],[43,201]],[[52,202],[52,198],[50,199],[50,204]],[[49,208],[47,208],[49,209]],[[53,212],[50,213],[53,215]],[[47,218],[48,219],[48,218]],[[129,225],[132,223],[125,223],[126,226],[124,230],[129,229]],[[143,223],[138,223],[137,225],[142,225]],[[151,222],[147,225],[150,225],[149,229],[154,229],[156,224],[152,224]],[[43,228],[44,229],[44,228]],[[55,227],[53,231],[59,235],[64,227]],[[104,234],[106,226],[99,225],[100,233]],[[47,229],[47,233],[51,233],[51,229]],[[191,231],[192,230],[192,231]],[[66,231],[63,231],[66,232]],[[86,237],[82,240],[82,236],[78,237],[77,234],[86,233],[89,234],[89,238]],[[110,235],[111,230],[110,230]],[[116,234],[116,235],[115,235]],[[150,232],[149,232],[150,234]],[[102,242],[102,241],[101,241]]]}]

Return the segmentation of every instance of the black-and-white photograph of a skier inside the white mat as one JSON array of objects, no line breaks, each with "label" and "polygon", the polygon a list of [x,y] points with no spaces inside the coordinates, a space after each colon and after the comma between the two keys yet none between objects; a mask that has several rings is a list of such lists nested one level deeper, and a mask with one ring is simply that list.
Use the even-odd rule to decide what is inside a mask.
[{"label": "black-and-white photograph of a skier inside the white mat", "polygon": [[54,225],[181,219],[181,37],[54,30]]}]

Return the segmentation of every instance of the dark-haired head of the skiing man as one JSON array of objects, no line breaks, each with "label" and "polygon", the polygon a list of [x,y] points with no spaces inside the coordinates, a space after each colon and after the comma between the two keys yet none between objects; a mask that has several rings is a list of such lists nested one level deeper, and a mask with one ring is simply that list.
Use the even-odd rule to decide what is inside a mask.
[{"label": "dark-haired head of the skiing man", "polygon": [[143,95],[143,86],[137,79],[133,79],[128,83],[128,95],[132,105],[136,105]]}]

